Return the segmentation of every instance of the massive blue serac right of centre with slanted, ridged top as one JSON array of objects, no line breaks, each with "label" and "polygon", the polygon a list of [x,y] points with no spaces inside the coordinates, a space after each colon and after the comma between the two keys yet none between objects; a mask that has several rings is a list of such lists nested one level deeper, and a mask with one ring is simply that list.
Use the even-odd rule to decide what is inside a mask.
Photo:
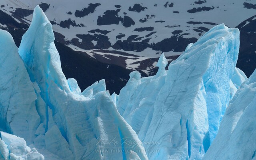
[{"label": "massive blue serac right of centre with slanted, ridged top", "polygon": [[167,72],[162,56],[156,76],[142,78],[133,92],[120,92],[118,111],[149,159],[202,159],[235,93],[230,88],[245,80],[235,72],[238,50],[239,30],[220,24],[189,44]]}]

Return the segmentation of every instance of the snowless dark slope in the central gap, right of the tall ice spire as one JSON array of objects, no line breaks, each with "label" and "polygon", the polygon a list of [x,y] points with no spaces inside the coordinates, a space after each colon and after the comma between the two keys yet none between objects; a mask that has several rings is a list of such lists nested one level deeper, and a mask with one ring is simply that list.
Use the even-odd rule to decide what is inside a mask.
[{"label": "snowless dark slope in the central gap, right of the tall ice spire", "polygon": [[75,52],[60,42],[54,43],[60,54],[63,73],[66,78],[75,78],[81,90],[101,79],[105,79],[110,94],[119,94],[120,89],[126,85],[131,70],[99,62],[83,52]]}]

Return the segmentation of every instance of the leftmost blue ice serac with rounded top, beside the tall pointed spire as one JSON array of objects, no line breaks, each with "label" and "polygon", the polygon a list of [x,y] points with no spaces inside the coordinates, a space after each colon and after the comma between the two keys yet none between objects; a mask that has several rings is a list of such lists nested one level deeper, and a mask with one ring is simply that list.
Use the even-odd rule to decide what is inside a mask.
[{"label": "leftmost blue ice serac with rounded top, beside the tall pointed spire", "polygon": [[40,97],[30,81],[10,33],[0,30],[0,130],[26,139],[30,145],[36,138],[40,119],[36,107]]}]

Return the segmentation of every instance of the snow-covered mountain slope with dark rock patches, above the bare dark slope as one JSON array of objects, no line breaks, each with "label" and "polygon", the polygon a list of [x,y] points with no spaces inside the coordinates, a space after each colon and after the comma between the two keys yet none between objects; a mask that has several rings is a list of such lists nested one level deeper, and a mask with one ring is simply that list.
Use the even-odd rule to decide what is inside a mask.
[{"label": "snow-covered mountain slope with dark rock patches, above the bare dark slope", "polygon": [[37,4],[60,33],[58,41],[101,62],[147,74],[157,60],[147,66],[141,61],[158,58],[162,52],[174,60],[170,56],[180,55],[216,24],[234,28],[255,15],[255,4],[246,0],[2,0],[0,5],[18,22],[30,24]]}]

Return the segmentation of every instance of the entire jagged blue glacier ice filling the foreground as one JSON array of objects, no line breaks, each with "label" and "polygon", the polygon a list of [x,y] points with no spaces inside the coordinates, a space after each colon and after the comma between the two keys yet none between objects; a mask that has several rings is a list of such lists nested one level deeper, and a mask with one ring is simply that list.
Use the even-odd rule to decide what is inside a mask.
[{"label": "entire jagged blue glacier ice filling the foreground", "polygon": [[235,67],[237,28],[215,26],[169,65],[162,54],[119,95],[66,79],[39,6],[19,48],[0,37],[0,160],[256,159],[256,71]]}]

